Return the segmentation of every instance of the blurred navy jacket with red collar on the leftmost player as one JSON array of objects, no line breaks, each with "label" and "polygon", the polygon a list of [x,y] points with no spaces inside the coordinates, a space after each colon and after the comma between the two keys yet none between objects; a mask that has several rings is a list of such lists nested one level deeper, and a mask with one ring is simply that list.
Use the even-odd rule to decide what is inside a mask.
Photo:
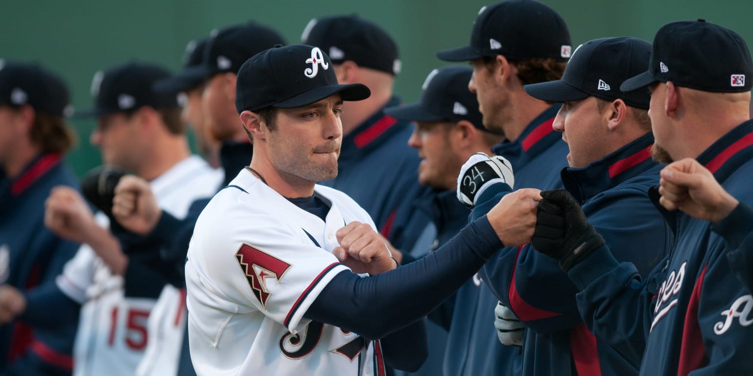
[{"label": "blurred navy jacket with red collar on the leftmost player", "polygon": [[[21,291],[54,284],[78,244],[58,238],[44,226],[44,201],[54,186],[78,182],[59,154],[38,156],[19,176],[0,172],[0,283]],[[78,309],[71,301],[61,304]],[[70,374],[78,311],[50,316],[37,326],[32,317],[0,326],[0,369],[19,374]],[[70,320],[69,320],[70,319]],[[35,327],[31,332],[29,326]],[[60,325],[55,325],[60,324]]]}]

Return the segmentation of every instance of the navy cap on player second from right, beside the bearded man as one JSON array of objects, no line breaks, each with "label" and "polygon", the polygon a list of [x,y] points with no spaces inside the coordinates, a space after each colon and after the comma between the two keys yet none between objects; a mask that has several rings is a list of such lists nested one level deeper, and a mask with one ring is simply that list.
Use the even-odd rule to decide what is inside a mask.
[{"label": "navy cap on player second from right, beside the bearded man", "polygon": [[648,90],[621,92],[620,83],[648,69],[651,44],[638,38],[601,38],[578,46],[561,80],[523,86],[530,96],[547,102],[570,102],[595,96],[648,109]]}]

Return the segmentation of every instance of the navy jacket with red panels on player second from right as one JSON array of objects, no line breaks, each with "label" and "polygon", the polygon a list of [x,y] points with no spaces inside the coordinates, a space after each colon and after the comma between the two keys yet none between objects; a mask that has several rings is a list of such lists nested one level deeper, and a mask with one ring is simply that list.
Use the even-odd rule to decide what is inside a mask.
[{"label": "navy jacket with red panels on player second from right", "polygon": [[[562,183],[581,205],[617,259],[633,262],[642,276],[669,252],[672,234],[648,199],[659,182],[648,133],[585,168],[564,168]],[[636,250],[636,244],[644,244]],[[523,374],[638,374],[642,353],[623,354],[597,341],[584,326],[578,290],[554,259],[530,244],[510,248],[484,268],[492,291],[526,323]],[[572,350],[577,349],[577,350]],[[549,359],[543,362],[541,359]]]}]

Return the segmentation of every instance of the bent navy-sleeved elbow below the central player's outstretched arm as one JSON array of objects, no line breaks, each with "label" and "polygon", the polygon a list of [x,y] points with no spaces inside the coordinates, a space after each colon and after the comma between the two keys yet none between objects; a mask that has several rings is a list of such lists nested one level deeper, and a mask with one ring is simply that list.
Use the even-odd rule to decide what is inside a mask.
[{"label": "bent navy-sleeved elbow below the central player's outstretched arm", "polygon": [[415,372],[428,357],[428,323],[419,319],[382,338],[384,360],[392,368]]}]

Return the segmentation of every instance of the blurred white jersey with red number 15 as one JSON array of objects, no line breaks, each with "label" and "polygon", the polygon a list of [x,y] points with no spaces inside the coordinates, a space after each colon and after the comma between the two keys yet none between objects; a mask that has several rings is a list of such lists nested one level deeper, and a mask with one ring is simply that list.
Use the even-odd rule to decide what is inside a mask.
[{"label": "blurred white jersey with red number 15", "polygon": [[[191,156],[150,185],[160,208],[181,218],[194,200],[212,196],[221,179],[221,171]],[[104,214],[98,214],[98,221],[107,226]],[[154,299],[123,296],[123,277],[111,274],[86,244],[66,263],[56,282],[63,293],[82,305],[74,344],[74,375],[133,376],[152,339],[147,320]],[[182,333],[182,326],[180,329]],[[182,337],[172,341],[163,345],[181,347]],[[161,361],[178,364],[177,357]]]}]

